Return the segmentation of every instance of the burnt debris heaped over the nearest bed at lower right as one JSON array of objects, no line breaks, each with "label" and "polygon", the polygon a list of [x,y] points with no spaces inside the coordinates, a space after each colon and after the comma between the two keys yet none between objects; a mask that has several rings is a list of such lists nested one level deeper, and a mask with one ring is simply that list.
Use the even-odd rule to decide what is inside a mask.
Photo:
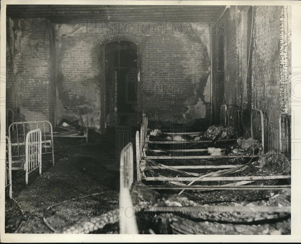
[{"label": "burnt debris heaped over the nearest bed at lower right", "polygon": [[[149,193],[143,184],[134,187],[136,197],[133,197],[132,193],[131,195],[133,203],[141,208],[140,212],[137,212],[137,216],[139,216],[138,221],[143,223],[139,224],[139,232],[142,233],[147,233],[150,227],[156,234],[228,234],[228,231],[231,231],[231,234],[290,233],[290,211],[278,211],[290,205],[290,191],[287,190],[266,191],[266,195],[262,196],[259,192],[247,192],[247,195],[252,194],[248,198],[243,197],[246,192],[237,191],[242,195],[241,199],[244,199],[240,203],[233,202],[233,199],[227,202],[229,193],[216,191],[219,201],[215,200],[211,204],[204,204],[206,202],[203,202],[206,198],[205,195],[200,196],[200,200],[203,202],[201,203],[186,196],[180,197],[178,194],[163,193],[159,195],[156,192],[152,193],[153,190]],[[258,193],[259,195],[257,195]],[[184,208],[181,210],[179,207]],[[237,207],[250,208],[250,211],[240,212]],[[254,210],[262,207],[271,209],[278,207],[279,209],[275,212]],[[138,208],[136,209],[138,210]],[[259,224],[267,219],[276,222],[275,224]],[[146,221],[147,224],[145,224]]]}]

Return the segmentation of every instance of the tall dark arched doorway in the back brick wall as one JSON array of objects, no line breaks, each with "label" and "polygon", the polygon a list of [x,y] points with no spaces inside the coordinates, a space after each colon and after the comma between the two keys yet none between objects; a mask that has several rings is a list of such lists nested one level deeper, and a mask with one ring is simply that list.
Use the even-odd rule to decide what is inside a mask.
[{"label": "tall dark arched doorway in the back brick wall", "polygon": [[[106,114],[135,113],[138,81],[138,47],[128,41],[105,46]],[[123,116],[121,116],[123,117]]]}]

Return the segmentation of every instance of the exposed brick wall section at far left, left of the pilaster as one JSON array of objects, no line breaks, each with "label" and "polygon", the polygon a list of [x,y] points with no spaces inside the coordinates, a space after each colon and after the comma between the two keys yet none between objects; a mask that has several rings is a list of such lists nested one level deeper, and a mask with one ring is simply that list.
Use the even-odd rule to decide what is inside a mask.
[{"label": "exposed brick wall section at far left, left of the pilaster", "polygon": [[54,123],[54,76],[50,58],[48,22],[45,19],[14,20],[15,73],[22,74],[23,102],[20,112],[26,120],[47,119]]}]

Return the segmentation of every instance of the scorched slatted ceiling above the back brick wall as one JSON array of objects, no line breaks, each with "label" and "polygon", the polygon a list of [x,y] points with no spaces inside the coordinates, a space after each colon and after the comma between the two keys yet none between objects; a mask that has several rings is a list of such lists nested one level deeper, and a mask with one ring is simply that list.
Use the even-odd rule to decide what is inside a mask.
[{"label": "scorched slatted ceiling above the back brick wall", "polygon": [[11,18],[47,18],[56,23],[101,22],[210,22],[225,6],[175,5],[8,5]]}]

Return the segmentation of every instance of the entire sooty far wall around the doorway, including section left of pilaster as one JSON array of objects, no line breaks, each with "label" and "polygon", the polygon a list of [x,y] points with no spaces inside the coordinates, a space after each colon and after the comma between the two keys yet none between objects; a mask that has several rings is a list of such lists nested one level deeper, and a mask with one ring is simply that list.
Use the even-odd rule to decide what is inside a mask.
[{"label": "entire sooty far wall around the doorway, including section left of pilaster", "polygon": [[[129,40],[139,46],[140,110],[152,119],[162,113],[191,113],[205,118],[210,102],[210,45],[206,24],[177,23],[165,31],[139,33],[91,28],[87,23],[55,24],[46,19],[14,19],[8,29],[8,69],[24,77],[19,104],[27,119],[34,114],[58,122],[88,115],[91,127],[104,124],[104,46]],[[197,30],[197,32],[196,32]],[[151,78],[150,78],[151,77]],[[157,79],[154,81],[154,79]],[[158,80],[159,79],[159,80]],[[156,82],[161,87],[158,91]],[[142,84],[141,83],[141,84]],[[157,93],[162,93],[157,96]],[[162,95],[162,96],[160,96]],[[154,100],[153,98],[156,97]],[[163,107],[157,114],[157,107]],[[111,111],[114,113],[114,111]],[[84,116],[86,118],[86,116]],[[102,122],[100,122],[102,121]]]}]

